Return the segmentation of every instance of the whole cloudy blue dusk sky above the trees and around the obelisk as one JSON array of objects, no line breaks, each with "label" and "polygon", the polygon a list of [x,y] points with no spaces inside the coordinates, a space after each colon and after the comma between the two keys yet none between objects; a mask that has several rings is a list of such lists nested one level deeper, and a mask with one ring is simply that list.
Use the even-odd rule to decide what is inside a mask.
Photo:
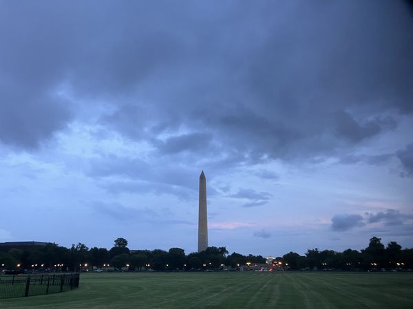
[{"label": "whole cloudy blue dusk sky above the trees and around the obelisk", "polygon": [[0,0],[0,242],[413,247],[407,1]]}]

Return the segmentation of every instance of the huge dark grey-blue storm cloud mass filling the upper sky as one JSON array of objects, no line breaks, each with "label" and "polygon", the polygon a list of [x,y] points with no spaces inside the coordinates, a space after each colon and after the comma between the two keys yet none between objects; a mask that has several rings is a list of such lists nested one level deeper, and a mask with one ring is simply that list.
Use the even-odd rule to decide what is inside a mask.
[{"label": "huge dark grey-blue storm cloud mass filling the upper sky", "polygon": [[92,111],[105,102],[100,124],[174,160],[209,150],[205,159],[222,169],[337,155],[394,128],[389,113],[413,112],[413,20],[403,2],[1,8],[6,144],[36,146],[76,117],[77,102]]}]

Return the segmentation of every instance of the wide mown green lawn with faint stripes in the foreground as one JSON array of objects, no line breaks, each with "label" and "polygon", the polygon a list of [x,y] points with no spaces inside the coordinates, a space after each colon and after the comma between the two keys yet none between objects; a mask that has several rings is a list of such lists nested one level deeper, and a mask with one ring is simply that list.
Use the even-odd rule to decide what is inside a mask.
[{"label": "wide mown green lawn with faint stripes in the foreground", "polygon": [[0,308],[413,308],[413,273],[88,273]]}]

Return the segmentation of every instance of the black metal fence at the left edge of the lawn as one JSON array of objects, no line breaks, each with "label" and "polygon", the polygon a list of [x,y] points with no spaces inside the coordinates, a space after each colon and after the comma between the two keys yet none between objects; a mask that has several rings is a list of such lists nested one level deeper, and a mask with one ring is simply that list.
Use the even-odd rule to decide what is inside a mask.
[{"label": "black metal fence at the left edge of the lawn", "polygon": [[28,297],[73,290],[79,286],[79,274],[3,275],[0,276],[0,299]]}]

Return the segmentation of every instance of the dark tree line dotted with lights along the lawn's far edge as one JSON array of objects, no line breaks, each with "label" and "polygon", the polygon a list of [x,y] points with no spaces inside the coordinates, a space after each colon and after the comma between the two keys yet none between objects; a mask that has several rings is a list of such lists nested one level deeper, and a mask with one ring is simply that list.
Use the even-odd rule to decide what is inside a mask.
[{"label": "dark tree line dotted with lights along the lawn's far edge", "polygon": [[[169,251],[130,250],[125,238],[114,240],[114,246],[88,248],[85,244],[72,244],[70,249],[56,244],[30,249],[10,249],[0,253],[0,268],[10,270],[82,271],[91,268],[115,270],[128,269],[142,271],[198,270],[262,266],[266,258],[261,255],[231,253],[226,247],[208,247],[199,253],[185,254],[184,249],[171,248]],[[387,247],[381,238],[370,238],[366,249],[347,249],[343,252],[308,249],[305,255],[290,252],[277,257],[270,267],[282,269],[341,269],[372,270],[381,268],[413,268],[413,249],[402,249],[397,242],[389,242]]]}]

